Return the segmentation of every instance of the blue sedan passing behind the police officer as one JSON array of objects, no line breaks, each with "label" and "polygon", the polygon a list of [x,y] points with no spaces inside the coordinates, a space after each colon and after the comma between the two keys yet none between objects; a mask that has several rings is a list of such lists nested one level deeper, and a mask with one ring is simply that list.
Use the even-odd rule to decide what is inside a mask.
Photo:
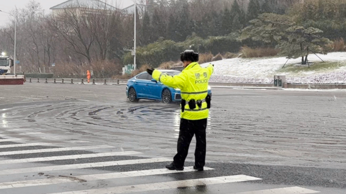
[{"label": "blue sedan passing behind the police officer", "polygon": [[[177,70],[161,71],[171,76],[181,73]],[[210,86],[208,87],[208,93],[211,94]],[[138,99],[160,100],[163,103],[182,100],[180,89],[163,85],[161,82],[152,79],[152,76],[146,71],[127,81],[126,95],[131,102],[137,102]]]}]

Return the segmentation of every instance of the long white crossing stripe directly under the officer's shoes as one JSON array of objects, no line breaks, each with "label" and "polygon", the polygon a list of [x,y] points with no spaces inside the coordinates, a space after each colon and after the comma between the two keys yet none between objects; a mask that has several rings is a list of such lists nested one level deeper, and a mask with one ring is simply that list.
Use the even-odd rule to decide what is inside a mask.
[{"label": "long white crossing stripe directly under the officer's shoes", "polygon": [[[213,168],[204,167],[204,170],[213,170]],[[88,174],[88,175],[74,176],[73,178],[60,177],[60,178],[50,178],[50,179],[23,180],[23,181],[0,183],[0,189],[19,188],[19,187],[26,187],[26,186],[42,186],[42,185],[49,185],[49,184],[61,184],[61,183],[76,182],[81,180],[92,181],[92,180],[104,180],[104,179],[112,179],[112,178],[182,173],[182,172],[191,172],[191,171],[196,171],[196,170],[191,166],[191,167],[186,167],[184,171],[168,170],[166,168],[162,168],[162,169],[114,172],[114,173],[103,173],[103,174]]]}]

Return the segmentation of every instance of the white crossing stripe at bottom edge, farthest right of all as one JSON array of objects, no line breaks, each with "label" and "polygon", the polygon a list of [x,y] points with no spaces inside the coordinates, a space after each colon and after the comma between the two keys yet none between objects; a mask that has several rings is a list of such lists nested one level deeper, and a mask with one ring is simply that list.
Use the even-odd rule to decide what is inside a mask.
[{"label": "white crossing stripe at bottom edge, farthest right of all", "polygon": [[275,194],[310,194],[310,193],[318,193],[319,191],[316,190],[310,190],[307,188],[302,188],[298,186],[293,187],[285,187],[285,188],[273,188],[273,189],[266,189],[266,190],[254,190],[254,191],[248,191],[248,192],[238,192],[235,194],[268,194],[268,193],[275,193]]}]

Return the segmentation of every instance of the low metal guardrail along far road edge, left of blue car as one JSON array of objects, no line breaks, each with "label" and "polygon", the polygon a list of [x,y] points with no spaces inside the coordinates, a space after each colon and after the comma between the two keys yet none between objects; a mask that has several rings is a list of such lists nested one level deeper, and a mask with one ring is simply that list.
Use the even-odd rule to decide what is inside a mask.
[{"label": "low metal guardrail along far road edge, left of blue car", "polygon": [[84,78],[32,78],[26,77],[26,81],[37,82],[37,83],[61,83],[61,84],[126,84],[128,79],[101,79],[101,78],[93,78],[93,79],[84,79]]}]

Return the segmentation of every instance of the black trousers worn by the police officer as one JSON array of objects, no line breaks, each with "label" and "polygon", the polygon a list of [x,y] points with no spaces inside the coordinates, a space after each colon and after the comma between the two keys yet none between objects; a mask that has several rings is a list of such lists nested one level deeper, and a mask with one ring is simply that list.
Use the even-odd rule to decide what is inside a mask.
[{"label": "black trousers worn by the police officer", "polygon": [[206,163],[206,128],[207,118],[202,120],[188,120],[182,118],[180,121],[180,132],[178,138],[178,153],[174,156],[174,164],[177,167],[184,166],[188,156],[189,146],[194,134],[196,135],[195,165],[203,167]]}]

